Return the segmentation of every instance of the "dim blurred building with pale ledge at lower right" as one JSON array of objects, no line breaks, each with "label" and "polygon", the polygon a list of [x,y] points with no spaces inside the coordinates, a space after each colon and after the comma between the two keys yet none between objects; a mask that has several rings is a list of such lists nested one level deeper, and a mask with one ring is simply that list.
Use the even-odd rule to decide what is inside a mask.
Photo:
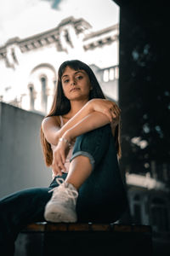
[{"label": "dim blurred building with pale ledge at lower right", "polygon": [[[155,173],[158,173],[157,167],[155,166]],[[170,248],[170,188],[167,177],[153,177],[150,172],[145,175],[127,172],[126,182],[132,223],[150,225],[154,247],[160,250],[163,246],[168,251]]]}]

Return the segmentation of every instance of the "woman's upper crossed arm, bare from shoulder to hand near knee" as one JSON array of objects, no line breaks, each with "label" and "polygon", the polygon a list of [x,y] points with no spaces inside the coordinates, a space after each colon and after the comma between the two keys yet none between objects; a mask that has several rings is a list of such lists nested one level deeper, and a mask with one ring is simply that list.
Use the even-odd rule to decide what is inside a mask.
[{"label": "woman's upper crossed arm, bare from shoulder to hand near knee", "polygon": [[48,117],[42,121],[42,131],[45,134],[48,143],[57,145],[59,137],[63,137],[65,131],[68,131],[74,125],[77,125],[89,113],[99,112],[105,114],[108,123],[120,114],[120,109],[115,102],[105,99],[93,99],[86,103],[61,129],[59,129],[59,120],[56,117]]}]

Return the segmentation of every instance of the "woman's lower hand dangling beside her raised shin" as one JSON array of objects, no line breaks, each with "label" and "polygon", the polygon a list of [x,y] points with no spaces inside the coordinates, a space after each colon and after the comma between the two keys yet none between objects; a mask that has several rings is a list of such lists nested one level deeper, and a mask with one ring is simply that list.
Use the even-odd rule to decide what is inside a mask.
[{"label": "woman's lower hand dangling beside her raised shin", "polygon": [[52,168],[55,175],[61,176],[61,171],[66,171],[65,159],[69,153],[69,149],[69,145],[65,141],[59,141],[56,148],[54,148]]}]

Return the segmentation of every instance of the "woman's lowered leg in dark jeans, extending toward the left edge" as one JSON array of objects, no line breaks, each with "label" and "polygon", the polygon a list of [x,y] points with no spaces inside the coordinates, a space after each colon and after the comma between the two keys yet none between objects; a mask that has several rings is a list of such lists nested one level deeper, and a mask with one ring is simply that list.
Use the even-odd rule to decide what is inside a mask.
[{"label": "woman's lowered leg in dark jeans, extending toward the left edge", "polygon": [[[63,174],[65,179],[66,174]],[[51,183],[49,188],[24,189],[0,200],[0,253],[14,254],[14,241],[26,224],[44,221],[44,207],[51,198],[49,189],[58,186]]]}]

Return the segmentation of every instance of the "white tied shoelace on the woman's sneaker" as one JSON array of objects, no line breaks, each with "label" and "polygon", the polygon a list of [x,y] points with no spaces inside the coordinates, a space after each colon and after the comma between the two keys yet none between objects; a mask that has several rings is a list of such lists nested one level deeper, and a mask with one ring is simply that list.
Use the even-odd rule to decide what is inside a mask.
[{"label": "white tied shoelace on the woman's sneaker", "polygon": [[60,191],[65,192],[65,193],[62,193],[62,194],[59,195],[60,198],[64,198],[64,199],[71,198],[74,201],[74,204],[76,204],[76,198],[78,196],[77,190],[69,188],[69,187],[65,187],[65,180],[62,177],[56,178],[56,182],[59,184],[59,186],[48,191],[48,193],[54,191],[54,194],[53,194],[52,198],[53,199],[57,198],[58,195],[57,195],[57,193],[55,193],[55,191],[60,190]]}]

